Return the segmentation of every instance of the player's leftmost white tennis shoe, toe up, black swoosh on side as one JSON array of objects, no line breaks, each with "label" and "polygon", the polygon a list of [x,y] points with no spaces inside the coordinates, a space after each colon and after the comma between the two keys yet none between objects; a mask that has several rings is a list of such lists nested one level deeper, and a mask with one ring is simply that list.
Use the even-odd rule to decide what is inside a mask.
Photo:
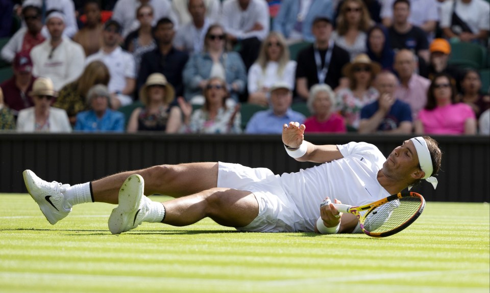
[{"label": "player's leftmost white tennis shoe, toe up, black swoosh on side", "polygon": [[65,200],[62,193],[70,186],[69,184],[44,181],[31,170],[24,170],[22,176],[27,191],[39,205],[44,217],[52,225],[68,216],[71,211],[71,204]]}]

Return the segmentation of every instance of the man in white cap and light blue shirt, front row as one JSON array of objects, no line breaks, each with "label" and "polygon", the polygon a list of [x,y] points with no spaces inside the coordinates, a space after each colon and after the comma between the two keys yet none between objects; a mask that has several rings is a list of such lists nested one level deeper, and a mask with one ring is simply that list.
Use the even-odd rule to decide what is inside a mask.
[{"label": "man in white cap and light blue shirt, front row", "polygon": [[270,109],[259,111],[250,118],[245,132],[248,134],[281,134],[282,125],[291,121],[300,124],[305,116],[290,109],[292,103],[291,86],[288,83],[278,82],[269,91]]}]

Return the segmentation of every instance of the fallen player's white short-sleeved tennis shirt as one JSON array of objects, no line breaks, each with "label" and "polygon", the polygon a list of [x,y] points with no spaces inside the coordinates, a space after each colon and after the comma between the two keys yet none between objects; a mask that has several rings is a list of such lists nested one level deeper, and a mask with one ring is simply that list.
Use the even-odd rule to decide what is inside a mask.
[{"label": "fallen player's white short-sleeved tennis shirt", "polygon": [[281,175],[284,191],[297,206],[296,225],[306,230],[314,230],[320,204],[327,196],[332,202],[363,205],[390,195],[377,179],[386,158],[376,146],[350,142],[337,147],[343,158]]}]

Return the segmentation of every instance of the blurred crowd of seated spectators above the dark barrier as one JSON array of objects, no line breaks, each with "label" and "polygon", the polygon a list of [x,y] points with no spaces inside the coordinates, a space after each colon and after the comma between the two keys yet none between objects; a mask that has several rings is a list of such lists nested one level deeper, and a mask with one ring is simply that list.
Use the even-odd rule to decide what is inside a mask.
[{"label": "blurred crowd of seated spectators above the dark barrier", "polygon": [[[0,129],[490,135],[487,0],[0,0]],[[483,74],[482,74],[483,72]]]}]

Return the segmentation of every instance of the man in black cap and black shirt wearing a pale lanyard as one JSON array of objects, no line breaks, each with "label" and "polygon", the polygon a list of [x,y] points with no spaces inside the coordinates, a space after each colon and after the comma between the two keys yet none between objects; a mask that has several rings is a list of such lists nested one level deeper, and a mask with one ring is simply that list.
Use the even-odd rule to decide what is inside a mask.
[{"label": "man in black cap and black shirt wearing a pale lanyard", "polygon": [[315,84],[327,84],[332,89],[339,85],[341,70],[350,62],[349,52],[330,40],[333,26],[327,17],[317,17],[311,26],[315,42],[298,54],[296,68],[296,92],[301,100],[309,96],[309,89]]}]

